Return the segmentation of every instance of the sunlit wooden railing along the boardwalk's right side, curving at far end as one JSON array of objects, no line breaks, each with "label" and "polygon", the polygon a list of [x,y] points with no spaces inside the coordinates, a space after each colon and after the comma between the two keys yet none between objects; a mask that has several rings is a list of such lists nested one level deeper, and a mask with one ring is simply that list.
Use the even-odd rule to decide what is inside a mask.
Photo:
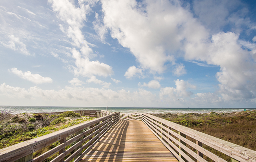
[{"label": "sunlit wooden railing along the boardwalk's right side, curving at far end", "polygon": [[[180,162],[256,162],[256,151],[144,113],[120,114],[120,119],[142,120]],[[209,149],[210,148],[210,149]]]}]

